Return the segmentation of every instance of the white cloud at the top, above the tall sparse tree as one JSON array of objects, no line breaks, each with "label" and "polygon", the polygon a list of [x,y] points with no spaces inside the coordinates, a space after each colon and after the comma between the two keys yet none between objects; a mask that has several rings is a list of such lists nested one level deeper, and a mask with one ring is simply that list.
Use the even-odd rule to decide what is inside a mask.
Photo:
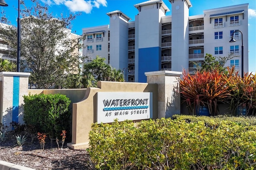
[{"label": "white cloud at the top, above the tall sparse tree", "polygon": [[107,6],[107,0],[41,0],[42,2],[51,6],[52,4],[64,4],[72,12],[91,13],[94,7]]}]

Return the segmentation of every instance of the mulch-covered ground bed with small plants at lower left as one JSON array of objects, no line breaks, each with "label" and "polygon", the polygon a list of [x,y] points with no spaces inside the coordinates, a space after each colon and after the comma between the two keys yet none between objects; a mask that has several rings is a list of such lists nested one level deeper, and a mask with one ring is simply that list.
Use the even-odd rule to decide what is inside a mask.
[{"label": "mulch-covered ground bed with small plants at lower left", "polygon": [[34,168],[36,170],[92,170],[90,156],[86,150],[72,150],[66,142],[61,149],[56,140],[46,139],[44,150],[41,149],[37,138],[31,142],[27,136],[22,146],[17,145],[13,132],[8,132],[6,140],[0,139],[0,160]]}]

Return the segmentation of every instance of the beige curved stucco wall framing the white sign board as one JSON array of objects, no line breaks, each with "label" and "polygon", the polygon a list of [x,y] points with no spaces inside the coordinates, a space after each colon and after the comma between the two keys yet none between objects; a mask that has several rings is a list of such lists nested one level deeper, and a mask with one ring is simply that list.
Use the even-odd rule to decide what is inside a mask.
[{"label": "beige curved stucco wall framing the white sign board", "polygon": [[70,148],[89,147],[89,132],[92,123],[96,122],[97,92],[152,92],[153,119],[158,118],[157,84],[98,81],[97,86],[88,88],[84,100],[73,104]]}]

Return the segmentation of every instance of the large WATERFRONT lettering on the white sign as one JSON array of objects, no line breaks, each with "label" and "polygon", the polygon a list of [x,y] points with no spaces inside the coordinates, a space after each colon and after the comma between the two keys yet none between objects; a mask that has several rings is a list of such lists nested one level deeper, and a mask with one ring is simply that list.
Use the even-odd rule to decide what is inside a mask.
[{"label": "large WATERFRONT lettering on the white sign", "polygon": [[116,107],[116,106],[138,106],[147,105],[148,99],[111,99],[103,100],[104,107]]}]

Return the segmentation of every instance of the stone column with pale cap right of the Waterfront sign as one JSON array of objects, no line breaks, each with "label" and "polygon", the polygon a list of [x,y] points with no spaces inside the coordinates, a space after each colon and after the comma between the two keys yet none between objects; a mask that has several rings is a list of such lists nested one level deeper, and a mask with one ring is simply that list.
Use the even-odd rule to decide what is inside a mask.
[{"label": "stone column with pale cap right of the Waterfront sign", "polygon": [[[180,114],[180,76],[179,71],[146,72],[147,83],[158,84],[158,119]],[[154,107],[154,106],[153,106]]]}]

